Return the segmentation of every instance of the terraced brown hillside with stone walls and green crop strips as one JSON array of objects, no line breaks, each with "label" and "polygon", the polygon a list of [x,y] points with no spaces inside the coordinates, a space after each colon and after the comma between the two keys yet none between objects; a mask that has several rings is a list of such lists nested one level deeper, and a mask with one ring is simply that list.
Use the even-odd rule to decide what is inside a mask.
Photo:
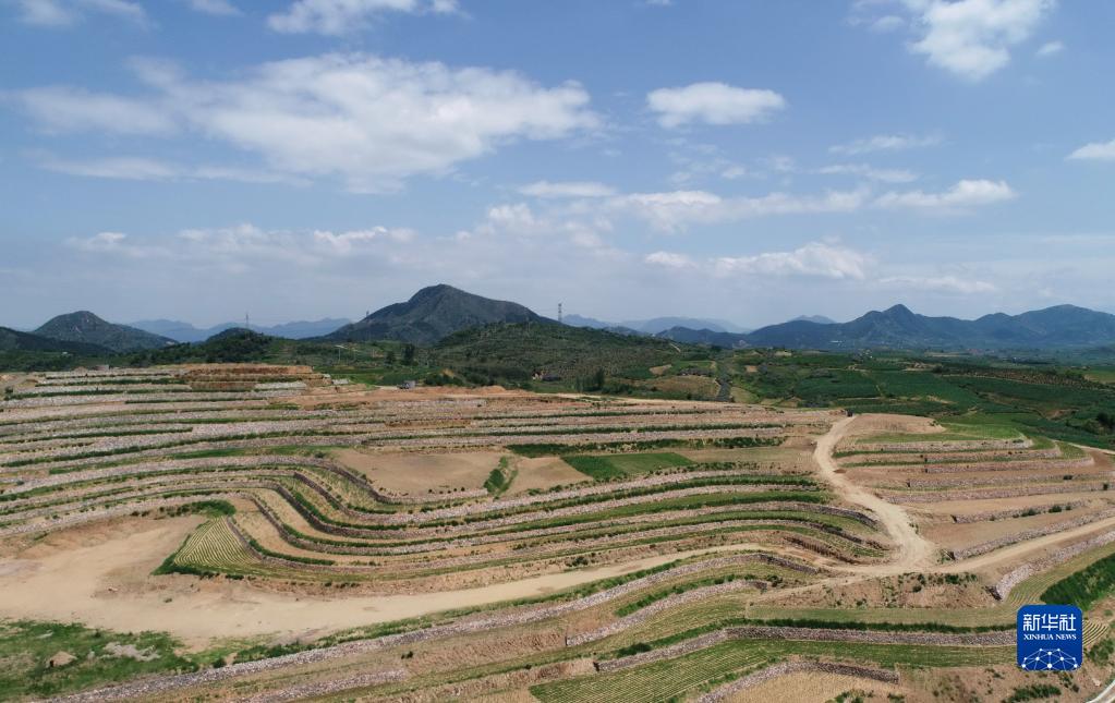
[{"label": "terraced brown hillside with stone walls and green crop strips", "polygon": [[[0,618],[35,652],[88,628],[6,697],[720,700],[820,667],[920,700],[970,666],[1006,697],[1040,676],[1017,605],[1115,553],[1109,458],[997,427],[265,365],[0,408]],[[174,655],[136,659],[153,628]]]}]

